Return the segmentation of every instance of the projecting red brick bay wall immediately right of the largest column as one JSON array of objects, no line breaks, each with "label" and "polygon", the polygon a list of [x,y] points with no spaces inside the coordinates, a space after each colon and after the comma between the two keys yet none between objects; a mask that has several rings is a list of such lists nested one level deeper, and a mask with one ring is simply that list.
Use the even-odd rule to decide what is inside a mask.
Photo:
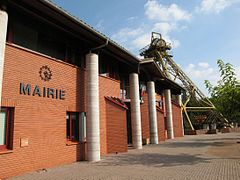
[{"label": "projecting red brick bay wall immediately right of the largest column", "polygon": [[106,100],[107,153],[127,152],[126,109]]}]

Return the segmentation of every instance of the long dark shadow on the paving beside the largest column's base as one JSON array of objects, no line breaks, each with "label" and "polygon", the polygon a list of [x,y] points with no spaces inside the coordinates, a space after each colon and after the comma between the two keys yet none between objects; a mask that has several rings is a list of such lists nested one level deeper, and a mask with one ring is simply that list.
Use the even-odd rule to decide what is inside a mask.
[{"label": "long dark shadow on the paving beside the largest column's base", "polygon": [[131,154],[121,155],[99,162],[98,166],[129,166],[129,165],[143,165],[152,167],[171,167],[180,165],[194,165],[198,163],[209,163],[210,158],[202,158],[198,155],[179,154]]}]

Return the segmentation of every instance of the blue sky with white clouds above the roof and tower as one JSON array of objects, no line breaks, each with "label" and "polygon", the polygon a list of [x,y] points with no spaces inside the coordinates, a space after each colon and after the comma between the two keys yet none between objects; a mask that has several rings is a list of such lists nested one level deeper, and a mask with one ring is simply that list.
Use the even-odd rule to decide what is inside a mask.
[{"label": "blue sky with white clouds above the roof and tower", "polygon": [[217,82],[217,59],[240,79],[240,0],[53,0],[138,56],[157,31],[173,46],[174,61],[206,93]]}]

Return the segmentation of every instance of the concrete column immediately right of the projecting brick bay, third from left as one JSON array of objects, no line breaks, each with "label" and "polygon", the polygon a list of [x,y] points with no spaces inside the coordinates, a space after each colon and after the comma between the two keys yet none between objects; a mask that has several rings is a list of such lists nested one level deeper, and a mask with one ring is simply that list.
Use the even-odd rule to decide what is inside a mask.
[{"label": "concrete column immediately right of the projecting brick bay, third from left", "polygon": [[133,147],[135,149],[142,149],[142,125],[141,125],[138,74],[136,73],[130,74],[129,83],[130,83]]}]

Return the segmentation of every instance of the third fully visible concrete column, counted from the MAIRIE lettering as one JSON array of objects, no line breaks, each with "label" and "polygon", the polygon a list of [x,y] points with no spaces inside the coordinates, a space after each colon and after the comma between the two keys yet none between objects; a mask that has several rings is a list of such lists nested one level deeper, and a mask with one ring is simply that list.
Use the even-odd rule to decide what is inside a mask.
[{"label": "third fully visible concrete column, counted from the MAIRIE lettering", "polygon": [[156,96],[155,96],[155,84],[153,81],[149,81],[147,83],[147,90],[148,90],[148,110],[149,110],[149,120],[150,120],[150,142],[151,144],[158,144]]}]

